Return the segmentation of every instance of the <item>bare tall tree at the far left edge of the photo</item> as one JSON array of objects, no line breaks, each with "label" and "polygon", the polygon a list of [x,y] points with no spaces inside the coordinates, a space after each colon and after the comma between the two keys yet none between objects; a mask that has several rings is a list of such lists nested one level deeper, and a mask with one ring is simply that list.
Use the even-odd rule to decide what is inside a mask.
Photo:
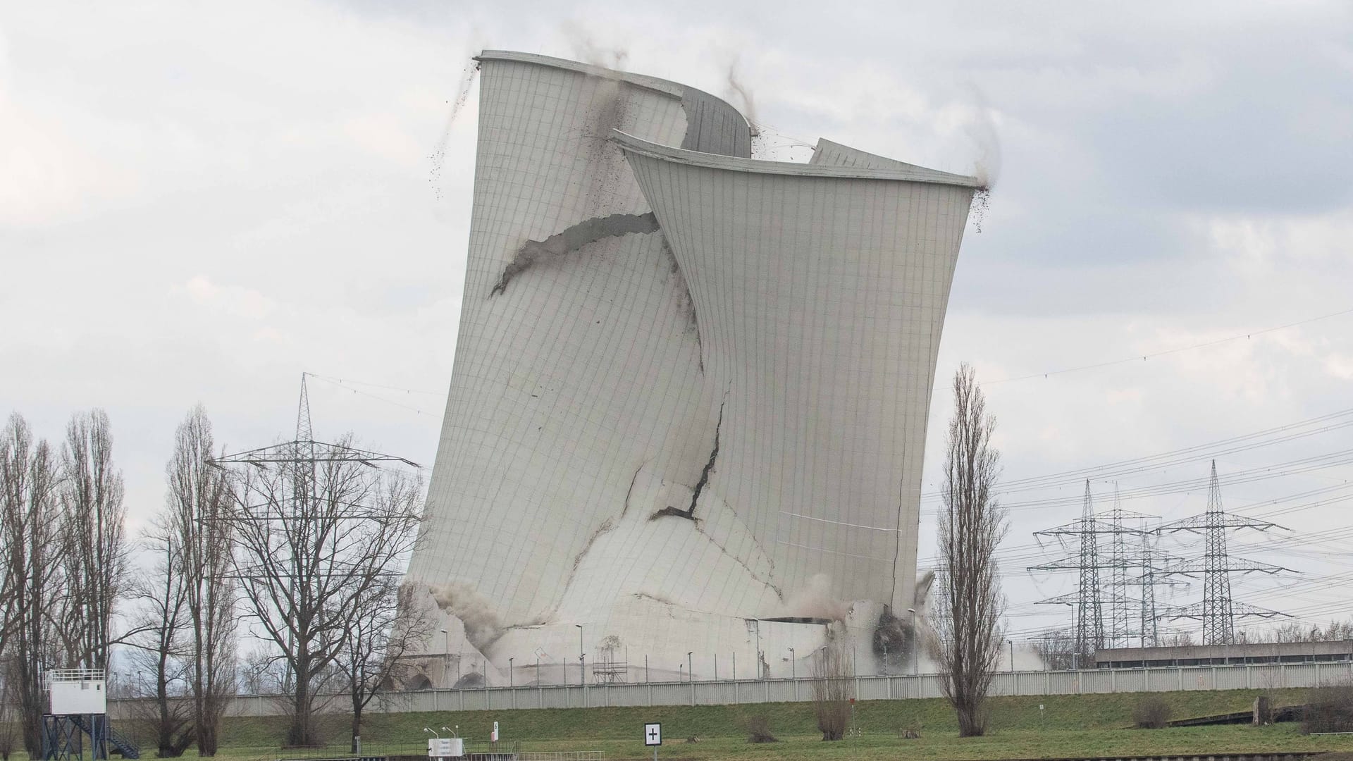
[{"label": "bare tall tree at the far left edge of the photo", "polygon": [[42,747],[43,692],[39,674],[57,651],[51,612],[61,586],[62,548],[58,509],[60,478],[46,441],[32,441],[28,424],[9,416],[0,432],[0,548],[5,585],[3,651],[11,655],[23,745],[30,756]]}]

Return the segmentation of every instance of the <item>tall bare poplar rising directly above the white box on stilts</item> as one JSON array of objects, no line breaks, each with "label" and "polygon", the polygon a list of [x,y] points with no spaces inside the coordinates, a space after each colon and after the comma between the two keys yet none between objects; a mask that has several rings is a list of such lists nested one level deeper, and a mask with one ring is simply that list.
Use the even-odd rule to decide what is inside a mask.
[{"label": "tall bare poplar rising directly above the white box on stilts", "polygon": [[108,416],[76,413],[61,448],[61,539],[65,584],[57,631],[66,666],[104,669],[112,612],[127,585],[122,473],[112,464]]}]

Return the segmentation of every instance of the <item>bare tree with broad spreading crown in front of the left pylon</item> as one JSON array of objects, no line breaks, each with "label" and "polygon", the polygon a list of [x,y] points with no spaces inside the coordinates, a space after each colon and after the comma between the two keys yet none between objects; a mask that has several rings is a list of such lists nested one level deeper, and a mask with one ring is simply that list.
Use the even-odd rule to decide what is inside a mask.
[{"label": "bare tree with broad spreading crown in front of the left pylon", "polygon": [[[373,634],[365,607],[388,594],[383,585],[400,573],[421,519],[421,483],[350,444],[350,436],[298,440],[233,460],[253,466],[235,487],[235,571],[249,612],[287,665],[287,745],[317,745],[321,682],[345,643]],[[350,664],[371,657],[348,651]],[[364,666],[353,673],[364,684],[372,676]]]}]

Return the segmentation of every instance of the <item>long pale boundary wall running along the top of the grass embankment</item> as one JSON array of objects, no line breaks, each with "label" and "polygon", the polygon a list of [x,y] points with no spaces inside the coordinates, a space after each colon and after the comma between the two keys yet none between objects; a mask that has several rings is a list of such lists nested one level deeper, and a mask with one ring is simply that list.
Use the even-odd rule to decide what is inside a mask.
[{"label": "long pale boundary wall running along the top of the grass embankment", "polygon": [[[1173,692],[1181,689],[1276,689],[1319,687],[1353,678],[1353,664],[1272,664],[1253,666],[1178,666],[1155,669],[1101,669],[1082,672],[1003,672],[992,695],[1082,695],[1105,692]],[[852,677],[859,700],[940,697],[938,674]],[[502,687],[488,689],[428,689],[379,696],[371,712],[503,711],[513,708],[580,708],[609,705],[721,705],[737,703],[792,703],[812,700],[812,680],[741,680],[652,684],[594,684]],[[118,715],[129,700],[112,700]],[[333,696],[341,711],[345,696]],[[276,696],[241,695],[227,715],[281,714]]]}]

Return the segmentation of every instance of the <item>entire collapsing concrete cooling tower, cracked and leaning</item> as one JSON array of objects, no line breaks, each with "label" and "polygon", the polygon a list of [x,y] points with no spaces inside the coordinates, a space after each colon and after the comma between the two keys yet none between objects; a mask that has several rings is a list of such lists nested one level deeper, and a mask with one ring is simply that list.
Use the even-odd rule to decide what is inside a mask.
[{"label": "entire collapsing concrete cooling tower, cracked and leaning", "polygon": [[828,141],[758,161],[747,121],[697,89],[479,61],[464,306],[409,569],[448,630],[428,681],[448,658],[559,681],[529,669],[576,659],[580,632],[594,664],[622,647],[655,678],[717,655],[789,676],[832,620],[869,650],[917,604],[927,413],[978,181]]}]

